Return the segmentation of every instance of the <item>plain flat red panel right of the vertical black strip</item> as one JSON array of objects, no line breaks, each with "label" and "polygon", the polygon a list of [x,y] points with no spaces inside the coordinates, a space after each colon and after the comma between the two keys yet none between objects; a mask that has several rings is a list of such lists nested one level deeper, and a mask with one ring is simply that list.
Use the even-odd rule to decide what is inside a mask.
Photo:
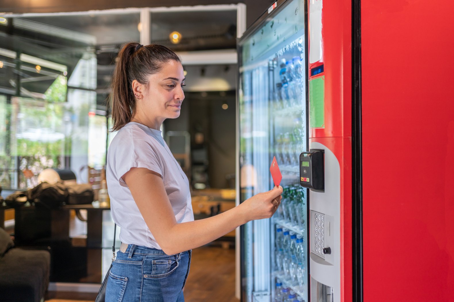
[{"label": "plain flat red panel right of the vertical black strip", "polygon": [[454,301],[453,11],[361,1],[367,302]]}]

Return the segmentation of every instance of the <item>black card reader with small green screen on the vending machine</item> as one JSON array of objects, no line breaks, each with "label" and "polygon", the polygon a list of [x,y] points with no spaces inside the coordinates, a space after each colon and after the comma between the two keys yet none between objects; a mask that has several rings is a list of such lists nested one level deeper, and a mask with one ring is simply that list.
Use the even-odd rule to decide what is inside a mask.
[{"label": "black card reader with small green screen on the vending machine", "polygon": [[325,191],[324,150],[311,149],[300,154],[300,185],[313,191]]}]

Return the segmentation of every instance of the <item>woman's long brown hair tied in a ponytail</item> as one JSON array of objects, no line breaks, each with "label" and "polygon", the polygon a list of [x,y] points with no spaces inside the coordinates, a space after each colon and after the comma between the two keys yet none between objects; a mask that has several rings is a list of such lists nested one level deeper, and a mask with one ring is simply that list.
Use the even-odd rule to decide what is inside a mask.
[{"label": "woman's long brown hair tied in a ponytail", "polygon": [[181,62],[176,53],[163,45],[127,43],[117,56],[112,77],[109,106],[112,112],[112,131],[121,129],[131,121],[136,109],[136,100],[132,88],[133,80],[148,84],[148,77],[158,73],[163,63]]}]

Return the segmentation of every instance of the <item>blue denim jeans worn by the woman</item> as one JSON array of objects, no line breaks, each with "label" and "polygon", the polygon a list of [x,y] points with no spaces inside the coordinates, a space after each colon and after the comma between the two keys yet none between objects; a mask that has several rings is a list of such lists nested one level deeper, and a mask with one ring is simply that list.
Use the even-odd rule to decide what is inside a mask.
[{"label": "blue denim jeans worn by the woman", "polygon": [[106,302],[184,302],[192,250],[167,255],[129,244],[117,252],[107,281]]}]

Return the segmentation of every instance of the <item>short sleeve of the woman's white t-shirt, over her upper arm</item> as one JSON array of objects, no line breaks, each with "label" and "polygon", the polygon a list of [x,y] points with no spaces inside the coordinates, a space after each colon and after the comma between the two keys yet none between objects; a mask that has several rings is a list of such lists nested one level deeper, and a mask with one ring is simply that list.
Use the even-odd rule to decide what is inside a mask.
[{"label": "short sleeve of the woman's white t-shirt, over her upper arm", "polygon": [[147,168],[163,177],[163,163],[153,139],[137,138],[128,133],[115,142],[115,171],[121,186],[127,187],[123,175],[131,168]]}]

